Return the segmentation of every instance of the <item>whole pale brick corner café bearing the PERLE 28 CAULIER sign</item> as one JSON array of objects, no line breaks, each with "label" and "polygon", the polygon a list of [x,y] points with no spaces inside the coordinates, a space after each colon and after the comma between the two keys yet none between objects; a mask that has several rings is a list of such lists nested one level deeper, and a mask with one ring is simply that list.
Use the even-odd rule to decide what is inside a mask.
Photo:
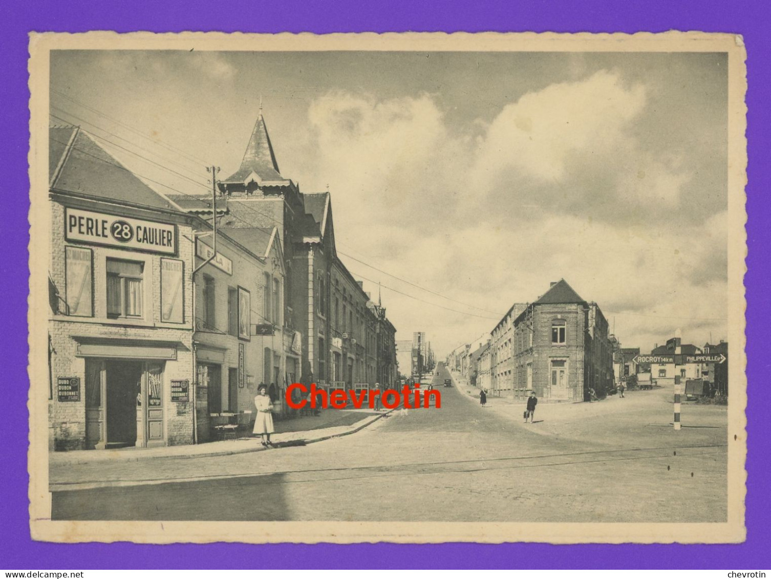
[{"label": "whole pale brick corner caf\u00e9 bearing the PERLE 28 CAULIER sign", "polygon": [[49,448],[192,443],[190,217],[75,126],[49,200]]}]

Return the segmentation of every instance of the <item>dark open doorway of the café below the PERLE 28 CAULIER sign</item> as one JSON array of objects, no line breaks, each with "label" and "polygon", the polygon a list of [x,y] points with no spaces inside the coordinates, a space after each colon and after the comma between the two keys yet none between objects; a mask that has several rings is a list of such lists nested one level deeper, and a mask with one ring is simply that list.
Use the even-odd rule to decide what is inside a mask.
[{"label": "dark open doorway of the caf\u00e9 below the PERLE 28 CAULIER sign", "polygon": [[142,392],[144,365],[142,362],[107,360],[106,366],[106,446],[136,446],[137,403]]}]

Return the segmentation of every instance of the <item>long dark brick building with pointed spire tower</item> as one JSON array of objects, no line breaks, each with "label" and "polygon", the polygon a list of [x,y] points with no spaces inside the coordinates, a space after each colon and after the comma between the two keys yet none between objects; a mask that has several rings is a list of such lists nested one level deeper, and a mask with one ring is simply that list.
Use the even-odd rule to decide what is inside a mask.
[{"label": "long dark brick building with pointed spire tower", "polygon": [[338,257],[331,195],[301,193],[281,175],[262,113],[239,169],[219,187],[230,227],[278,227],[284,240],[284,325],[303,336],[298,381],[360,388],[378,382],[379,356],[393,349],[378,347],[378,328],[392,341],[395,330],[379,321]]}]

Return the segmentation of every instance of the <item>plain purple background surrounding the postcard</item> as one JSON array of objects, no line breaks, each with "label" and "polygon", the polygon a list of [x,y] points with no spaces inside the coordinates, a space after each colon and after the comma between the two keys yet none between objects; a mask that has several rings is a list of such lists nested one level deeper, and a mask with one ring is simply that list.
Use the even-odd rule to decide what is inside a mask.
[{"label": "plain purple background surrounding the postcard", "polygon": [[[525,568],[712,568],[768,569],[769,449],[771,428],[769,395],[768,324],[769,264],[763,251],[769,243],[769,204],[764,196],[769,183],[771,151],[771,19],[765,0],[552,0],[551,2],[19,2],[3,16],[2,158],[4,175],[0,220],[5,237],[0,261],[3,374],[2,445],[0,465],[0,533],[5,569],[99,568],[253,568],[264,567],[525,567]],[[250,16],[251,15],[251,16]],[[253,26],[251,29],[246,26]],[[278,545],[241,544],[150,546],[133,544],[59,545],[35,543],[29,538],[27,500],[27,387],[26,374],[26,246],[29,180],[27,151],[29,113],[27,90],[27,33],[30,31],[84,32],[664,32],[702,30],[738,32],[748,51],[747,93],[749,185],[747,187],[747,336],[748,357],[748,483],[747,540],[740,545],[576,545],[443,544],[443,545]],[[8,162],[10,161],[10,162]],[[623,494],[609,500],[624,500]]]}]

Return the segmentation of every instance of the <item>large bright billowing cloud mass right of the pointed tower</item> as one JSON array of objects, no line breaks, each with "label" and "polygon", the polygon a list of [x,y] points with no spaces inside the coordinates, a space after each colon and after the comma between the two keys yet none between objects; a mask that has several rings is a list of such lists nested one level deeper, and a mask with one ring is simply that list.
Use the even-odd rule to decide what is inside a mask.
[{"label": "large bright billowing cloud mass right of the pointed tower", "polygon": [[428,94],[329,93],[308,109],[306,160],[332,191],[342,253],[454,301],[344,258],[352,271],[473,314],[384,290],[396,326],[432,328],[437,346],[489,331],[560,278],[607,310],[625,345],[674,325],[724,335],[726,214],[684,200],[698,172],[688,157],[638,138],[647,95],[600,70],[464,132]]}]

